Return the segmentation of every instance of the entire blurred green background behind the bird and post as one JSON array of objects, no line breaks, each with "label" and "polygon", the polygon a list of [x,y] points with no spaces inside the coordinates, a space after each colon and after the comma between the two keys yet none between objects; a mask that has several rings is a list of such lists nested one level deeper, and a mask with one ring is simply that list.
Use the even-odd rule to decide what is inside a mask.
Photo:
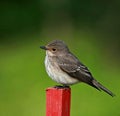
[{"label": "entire blurred green background behind the bird and post", "polygon": [[120,1],[1,0],[0,116],[45,116],[45,72],[39,46],[61,39],[113,91],[77,84],[71,116],[120,116]]}]

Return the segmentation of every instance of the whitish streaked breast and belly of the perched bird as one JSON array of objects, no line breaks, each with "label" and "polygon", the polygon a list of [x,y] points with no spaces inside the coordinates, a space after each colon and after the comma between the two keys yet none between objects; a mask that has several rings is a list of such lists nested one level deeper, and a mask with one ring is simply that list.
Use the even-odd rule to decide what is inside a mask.
[{"label": "whitish streaked breast and belly of the perched bird", "polygon": [[48,75],[54,81],[64,85],[72,85],[79,82],[79,80],[70,77],[66,72],[62,71],[56,62],[53,62],[53,60],[49,59],[48,54],[49,56],[52,56],[51,52],[46,51],[45,67]]}]

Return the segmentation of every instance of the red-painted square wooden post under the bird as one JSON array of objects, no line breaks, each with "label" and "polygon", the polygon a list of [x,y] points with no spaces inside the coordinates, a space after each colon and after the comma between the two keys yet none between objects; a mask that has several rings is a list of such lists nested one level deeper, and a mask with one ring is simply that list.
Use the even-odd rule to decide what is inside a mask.
[{"label": "red-painted square wooden post under the bird", "polygon": [[46,116],[70,116],[70,88],[46,89]]}]

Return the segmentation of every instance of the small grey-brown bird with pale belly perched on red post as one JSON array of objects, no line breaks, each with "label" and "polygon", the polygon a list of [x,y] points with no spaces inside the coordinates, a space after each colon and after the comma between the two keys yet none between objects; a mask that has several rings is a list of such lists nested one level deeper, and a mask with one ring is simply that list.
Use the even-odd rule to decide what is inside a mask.
[{"label": "small grey-brown bird with pale belly perched on red post", "polygon": [[103,90],[112,97],[110,90],[99,83],[89,69],[69,50],[62,40],[53,40],[45,46],[45,68],[49,77],[63,87],[69,87],[80,82],[86,83],[97,90]]}]

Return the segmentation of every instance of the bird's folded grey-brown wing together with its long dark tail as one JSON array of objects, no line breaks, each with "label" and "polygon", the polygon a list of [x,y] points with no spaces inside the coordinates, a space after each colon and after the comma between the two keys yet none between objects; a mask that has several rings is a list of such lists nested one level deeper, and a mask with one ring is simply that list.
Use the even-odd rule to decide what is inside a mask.
[{"label": "bird's folded grey-brown wing together with its long dark tail", "polygon": [[76,78],[81,82],[85,82],[92,87],[103,90],[111,96],[115,96],[110,90],[105,88],[102,84],[97,82],[93,77],[88,68],[83,65],[74,55],[67,54],[65,57],[58,58],[59,67],[70,75],[71,78]]}]

